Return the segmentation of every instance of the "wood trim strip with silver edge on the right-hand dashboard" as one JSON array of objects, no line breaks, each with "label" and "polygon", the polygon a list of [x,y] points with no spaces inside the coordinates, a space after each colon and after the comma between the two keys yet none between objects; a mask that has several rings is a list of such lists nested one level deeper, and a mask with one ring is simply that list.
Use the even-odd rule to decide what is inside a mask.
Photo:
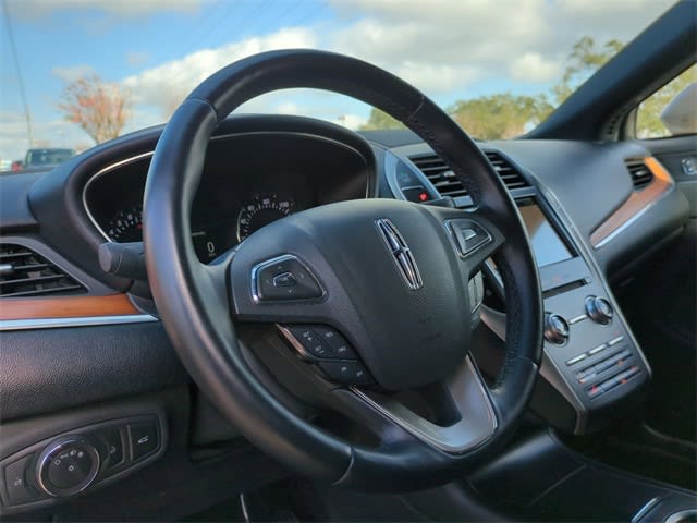
[{"label": "wood trim strip with silver edge on the right-hand dashboard", "polygon": [[653,174],[653,180],[641,191],[634,191],[629,197],[603,221],[591,234],[590,244],[600,248],[623,227],[628,226],[640,212],[651,206],[673,185],[673,179],[665,168],[653,157],[644,158],[644,163]]}]

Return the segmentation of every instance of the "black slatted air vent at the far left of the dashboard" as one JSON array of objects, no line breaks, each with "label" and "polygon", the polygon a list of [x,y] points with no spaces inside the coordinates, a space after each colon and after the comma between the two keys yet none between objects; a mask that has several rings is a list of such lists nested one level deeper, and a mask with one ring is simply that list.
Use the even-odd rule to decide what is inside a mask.
[{"label": "black slatted air vent at the far left of the dashboard", "polygon": [[24,245],[0,244],[0,297],[74,294],[85,288]]}]

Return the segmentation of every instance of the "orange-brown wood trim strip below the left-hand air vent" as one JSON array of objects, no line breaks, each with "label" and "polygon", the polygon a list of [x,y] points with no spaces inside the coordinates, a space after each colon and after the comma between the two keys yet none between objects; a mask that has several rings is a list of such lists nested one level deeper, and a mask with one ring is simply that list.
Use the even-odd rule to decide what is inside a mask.
[{"label": "orange-brown wood trim strip below the left-hand air vent", "polygon": [[125,294],[105,296],[10,297],[0,301],[0,321],[140,315]]}]

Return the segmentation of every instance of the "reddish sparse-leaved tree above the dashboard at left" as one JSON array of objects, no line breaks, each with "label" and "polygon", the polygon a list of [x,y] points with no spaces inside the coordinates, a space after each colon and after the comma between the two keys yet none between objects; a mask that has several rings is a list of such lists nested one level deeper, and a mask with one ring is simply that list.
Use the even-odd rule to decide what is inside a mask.
[{"label": "reddish sparse-leaved tree above the dashboard at left", "polygon": [[131,106],[125,89],[94,74],[68,84],[58,108],[100,144],[119,136],[131,117]]}]

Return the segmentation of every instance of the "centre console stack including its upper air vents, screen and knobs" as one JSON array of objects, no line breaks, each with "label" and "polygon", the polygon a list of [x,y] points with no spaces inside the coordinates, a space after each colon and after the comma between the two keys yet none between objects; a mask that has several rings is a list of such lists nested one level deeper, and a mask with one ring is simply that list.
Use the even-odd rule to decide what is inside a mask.
[{"label": "centre console stack including its upper air vents, screen and knobs", "polygon": [[[473,205],[452,171],[417,146],[386,153],[386,174],[398,198],[431,205]],[[531,173],[497,150],[484,150],[509,187],[538,264],[545,303],[541,380],[531,408],[566,433],[598,429],[620,405],[640,397],[650,368],[607,282],[572,220]],[[445,196],[445,197],[443,197]],[[485,266],[489,290],[505,290],[493,260]],[[505,314],[482,306],[481,320],[505,338]],[[484,370],[487,362],[479,362]],[[496,372],[496,370],[493,370]]]}]

